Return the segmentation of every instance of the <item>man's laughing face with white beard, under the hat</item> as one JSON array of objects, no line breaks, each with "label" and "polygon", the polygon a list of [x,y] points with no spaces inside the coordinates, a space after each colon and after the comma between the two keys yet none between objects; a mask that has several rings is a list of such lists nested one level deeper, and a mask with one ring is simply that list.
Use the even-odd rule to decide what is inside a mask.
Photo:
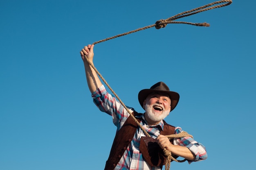
[{"label": "man's laughing face with white beard, under the hat", "polygon": [[149,94],[143,102],[145,118],[149,124],[158,124],[171,111],[171,99],[164,93]]}]

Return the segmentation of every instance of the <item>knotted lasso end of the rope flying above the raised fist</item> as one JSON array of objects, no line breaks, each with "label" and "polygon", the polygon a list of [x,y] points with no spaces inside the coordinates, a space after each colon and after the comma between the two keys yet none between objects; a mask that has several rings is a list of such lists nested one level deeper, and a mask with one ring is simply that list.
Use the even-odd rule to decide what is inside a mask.
[{"label": "knotted lasso end of the rope flying above the raised fist", "polygon": [[[117,37],[121,37],[121,36],[124,36],[124,35],[135,33],[135,32],[141,31],[141,30],[145,30],[147,28],[152,28],[154,26],[155,26],[156,29],[164,28],[164,27],[166,27],[167,24],[190,24],[190,25],[194,25],[194,26],[210,26],[210,24],[205,23],[205,22],[204,23],[174,22],[174,20],[180,19],[182,17],[187,17],[187,16],[190,16],[190,15],[194,15],[196,13],[208,11],[208,10],[211,10],[211,9],[225,7],[225,6],[230,5],[231,3],[232,3],[232,0],[220,0],[220,1],[212,2],[212,3],[204,5],[202,7],[198,7],[198,8],[189,10],[189,11],[185,11],[185,12],[179,13],[177,15],[174,15],[173,17],[167,18],[166,20],[158,20],[153,25],[145,26],[143,28],[138,28],[138,29],[133,30],[133,31],[129,31],[129,32],[126,32],[126,33],[115,35],[113,37],[102,39],[102,40],[94,42],[93,44],[98,44],[98,43],[101,43],[103,41],[108,41],[110,39],[114,39],[114,38],[117,38]],[[216,5],[216,4],[218,4],[218,5]]]}]

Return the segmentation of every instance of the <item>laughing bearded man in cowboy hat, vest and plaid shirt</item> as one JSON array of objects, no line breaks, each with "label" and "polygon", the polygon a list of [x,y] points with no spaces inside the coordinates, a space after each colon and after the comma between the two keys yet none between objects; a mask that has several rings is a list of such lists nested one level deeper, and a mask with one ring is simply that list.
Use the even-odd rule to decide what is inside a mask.
[{"label": "laughing bearded man in cowboy hat, vest and plaid shirt", "polygon": [[133,108],[128,108],[155,141],[151,142],[152,144],[147,142],[141,128],[131,119],[130,114],[119,101],[106,91],[97,73],[86,61],[85,57],[88,57],[93,64],[93,48],[94,45],[88,45],[80,52],[88,87],[94,103],[101,111],[112,116],[117,126],[117,134],[105,170],[160,170],[165,161],[165,157],[161,156],[164,148],[171,151],[175,157],[185,158],[189,163],[207,158],[205,147],[193,138],[182,137],[170,140],[166,137],[181,133],[182,129],[164,121],[164,118],[176,107],[180,96],[170,91],[163,82],[139,92],[139,103],[145,113],[137,113]]}]

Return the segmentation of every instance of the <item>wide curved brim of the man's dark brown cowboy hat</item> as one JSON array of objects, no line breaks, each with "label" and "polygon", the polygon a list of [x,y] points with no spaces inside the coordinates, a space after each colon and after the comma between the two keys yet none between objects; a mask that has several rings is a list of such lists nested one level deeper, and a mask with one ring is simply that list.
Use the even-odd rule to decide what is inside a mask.
[{"label": "wide curved brim of the man's dark brown cowboy hat", "polygon": [[138,94],[139,104],[141,105],[141,107],[143,109],[144,109],[144,107],[143,107],[144,100],[147,98],[147,96],[150,93],[153,93],[153,92],[162,92],[162,93],[168,94],[168,96],[171,99],[171,111],[177,106],[179,99],[180,99],[180,95],[177,92],[162,91],[162,90],[155,90],[155,89],[143,89]]}]

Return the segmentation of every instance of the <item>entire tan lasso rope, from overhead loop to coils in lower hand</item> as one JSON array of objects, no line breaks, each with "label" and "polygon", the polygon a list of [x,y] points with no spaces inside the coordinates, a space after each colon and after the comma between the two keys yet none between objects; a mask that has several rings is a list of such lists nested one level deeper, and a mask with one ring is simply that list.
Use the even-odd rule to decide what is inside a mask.
[{"label": "entire tan lasso rope, from overhead loop to coils in lower hand", "polygon": [[[145,26],[143,28],[138,28],[136,30],[133,30],[133,31],[129,31],[127,33],[123,33],[123,34],[119,34],[119,35],[115,35],[113,37],[109,37],[109,38],[106,38],[106,39],[102,39],[100,41],[96,41],[94,42],[93,44],[98,44],[98,43],[101,43],[103,41],[108,41],[110,39],[114,39],[114,38],[117,38],[117,37],[121,37],[121,36],[124,36],[124,35],[128,35],[130,33],[135,33],[137,31],[141,31],[141,30],[144,30],[144,29],[147,29],[147,28],[152,28],[155,26],[156,29],[160,29],[160,28],[164,28],[166,27],[167,24],[190,24],[190,25],[195,25],[195,26],[210,26],[210,24],[208,23],[191,23],[191,22],[177,22],[177,21],[174,21],[174,20],[177,20],[177,19],[180,19],[182,17],[187,17],[187,16],[190,16],[190,15],[194,15],[196,13],[200,13],[200,12],[203,12],[203,11],[208,11],[208,10],[211,10],[211,9],[216,9],[216,8],[220,8],[220,7],[225,7],[227,5],[230,5],[232,3],[232,0],[220,0],[220,1],[216,1],[216,2],[212,2],[210,4],[207,4],[207,5],[204,5],[204,6],[201,6],[201,7],[198,7],[198,8],[195,8],[195,9],[192,9],[190,11],[185,11],[185,12],[182,12],[182,13],[179,13],[177,15],[174,15],[173,17],[169,17],[167,18],[166,20],[158,20],[157,22],[155,22],[155,24],[153,25],[150,25],[150,26]],[[216,5],[218,4],[218,5]],[[214,6],[215,5],[215,6]],[[146,136],[150,137],[150,135],[148,134],[148,132],[146,132],[146,130],[141,126],[141,124],[137,121],[137,119],[132,115],[132,113],[130,112],[130,110],[126,107],[126,105],[124,104],[124,102],[121,101],[121,99],[117,96],[117,94],[114,92],[114,90],[110,87],[110,85],[108,85],[108,83],[106,82],[106,80],[103,78],[103,76],[99,73],[99,71],[94,67],[94,65],[89,61],[89,59],[85,56],[85,59],[86,61],[90,64],[90,66],[95,70],[95,72],[99,75],[99,77],[102,79],[102,81],[108,86],[108,88],[110,89],[110,91],[113,93],[113,95],[116,96],[117,100],[119,100],[119,102],[121,103],[121,105],[124,106],[124,108],[126,109],[126,111],[128,111],[128,113],[130,114],[130,116],[132,117],[132,119],[139,125],[139,127],[141,128],[141,130],[145,133]],[[166,135],[166,137],[168,137],[168,139],[173,139],[173,138],[180,138],[180,137],[187,137],[187,136],[190,136],[190,137],[193,137],[192,135],[189,135],[188,133],[186,132],[181,132],[181,133],[178,133],[178,134],[173,134],[173,135]],[[170,169],[170,165],[171,165],[171,161],[176,161],[176,162],[184,162],[186,159],[180,161],[180,160],[177,160],[175,158],[173,158],[171,156],[171,152],[166,150],[164,148],[164,154],[166,155],[166,161],[165,161],[165,170],[169,170]]]}]

